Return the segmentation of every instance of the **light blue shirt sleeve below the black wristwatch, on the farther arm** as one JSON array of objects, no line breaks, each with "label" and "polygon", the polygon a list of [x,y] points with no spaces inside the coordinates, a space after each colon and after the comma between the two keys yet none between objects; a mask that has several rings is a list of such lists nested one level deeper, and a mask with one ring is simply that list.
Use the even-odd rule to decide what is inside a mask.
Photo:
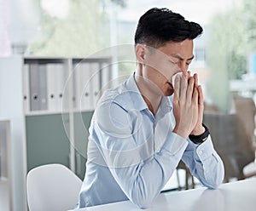
[{"label": "light blue shirt sleeve below the black wristwatch, on the farther arm", "polygon": [[189,140],[182,159],[191,174],[208,188],[216,189],[223,182],[224,163],[214,150],[210,135],[201,145],[195,145]]}]

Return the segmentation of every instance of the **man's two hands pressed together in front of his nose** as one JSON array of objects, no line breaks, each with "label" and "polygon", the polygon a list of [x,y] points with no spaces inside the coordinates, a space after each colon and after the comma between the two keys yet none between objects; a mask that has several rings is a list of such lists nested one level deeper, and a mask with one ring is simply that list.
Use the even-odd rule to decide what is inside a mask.
[{"label": "man's two hands pressed together in front of his nose", "polygon": [[189,72],[177,75],[174,89],[173,114],[176,126],[173,132],[184,139],[187,139],[191,133],[202,134],[204,132],[204,128],[201,126],[203,97],[201,86],[198,86],[197,75],[190,77]]}]

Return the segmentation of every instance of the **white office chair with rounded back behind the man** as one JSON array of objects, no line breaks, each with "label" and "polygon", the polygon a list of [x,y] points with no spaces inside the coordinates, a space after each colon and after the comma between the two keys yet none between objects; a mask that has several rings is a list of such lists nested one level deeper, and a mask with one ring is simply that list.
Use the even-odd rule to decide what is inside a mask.
[{"label": "white office chair with rounded back behind the man", "polygon": [[26,177],[30,211],[73,209],[79,201],[82,181],[61,164],[33,168]]}]

